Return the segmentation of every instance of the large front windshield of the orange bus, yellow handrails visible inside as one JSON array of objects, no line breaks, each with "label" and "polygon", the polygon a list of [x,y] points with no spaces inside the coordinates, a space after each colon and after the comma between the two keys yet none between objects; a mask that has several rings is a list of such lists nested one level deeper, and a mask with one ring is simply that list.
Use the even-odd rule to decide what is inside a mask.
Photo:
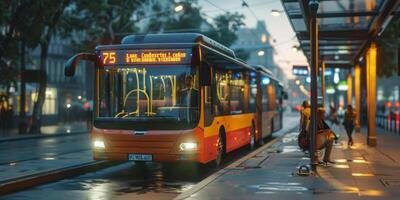
[{"label": "large front windshield of the orange bus, yellow handrails visible inside", "polygon": [[127,129],[179,129],[198,122],[199,81],[190,65],[104,66],[99,74],[97,120],[134,125]]}]

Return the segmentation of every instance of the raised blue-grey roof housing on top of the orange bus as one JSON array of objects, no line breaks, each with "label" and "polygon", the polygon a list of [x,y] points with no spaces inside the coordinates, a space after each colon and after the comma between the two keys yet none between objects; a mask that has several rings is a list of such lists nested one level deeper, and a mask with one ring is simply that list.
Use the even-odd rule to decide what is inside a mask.
[{"label": "raised blue-grey roof housing on top of the orange bus", "polygon": [[121,44],[168,44],[168,43],[201,43],[236,58],[232,49],[212,40],[200,33],[163,33],[163,34],[145,34],[128,35],[124,37]]}]

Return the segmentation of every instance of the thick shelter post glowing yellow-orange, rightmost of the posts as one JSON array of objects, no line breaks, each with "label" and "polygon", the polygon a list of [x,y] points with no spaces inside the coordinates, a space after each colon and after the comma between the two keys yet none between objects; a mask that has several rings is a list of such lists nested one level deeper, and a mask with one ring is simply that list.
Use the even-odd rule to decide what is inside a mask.
[{"label": "thick shelter post glowing yellow-orange, rightmost of the posts", "polygon": [[377,47],[374,42],[371,43],[367,51],[367,114],[368,114],[368,137],[367,144],[376,146],[376,56]]}]

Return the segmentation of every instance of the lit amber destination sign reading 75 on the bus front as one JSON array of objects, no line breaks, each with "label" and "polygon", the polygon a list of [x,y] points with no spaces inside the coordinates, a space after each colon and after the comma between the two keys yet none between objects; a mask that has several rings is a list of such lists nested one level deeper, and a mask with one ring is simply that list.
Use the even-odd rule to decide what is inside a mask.
[{"label": "lit amber destination sign reading 75 on the bus front", "polygon": [[187,64],[190,52],[184,49],[106,50],[101,51],[102,65]]}]

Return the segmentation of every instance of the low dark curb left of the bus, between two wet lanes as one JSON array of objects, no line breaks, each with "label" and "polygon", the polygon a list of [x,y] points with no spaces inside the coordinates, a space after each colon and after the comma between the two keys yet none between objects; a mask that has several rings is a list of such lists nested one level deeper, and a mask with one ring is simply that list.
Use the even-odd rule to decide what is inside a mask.
[{"label": "low dark curb left of the bus, between two wet lanes", "polygon": [[57,180],[82,175],[88,172],[93,172],[103,168],[119,164],[110,161],[92,161],[88,163],[79,164],[72,167],[61,168],[43,172],[34,175],[28,175],[21,178],[5,180],[0,182],[0,195],[10,194],[13,192],[28,189],[41,184],[54,182]]}]

